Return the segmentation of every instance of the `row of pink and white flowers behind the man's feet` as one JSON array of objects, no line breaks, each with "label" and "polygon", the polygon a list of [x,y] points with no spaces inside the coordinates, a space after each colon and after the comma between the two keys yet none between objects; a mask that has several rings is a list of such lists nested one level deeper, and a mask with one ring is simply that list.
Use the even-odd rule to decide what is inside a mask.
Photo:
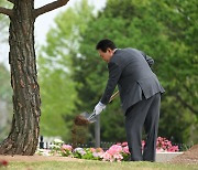
[{"label": "row of pink and white flowers behind the man's feet", "polygon": [[[145,141],[142,141],[142,149]],[[158,137],[156,144],[157,152],[179,151],[178,146],[173,146],[166,138]],[[73,148],[70,145],[65,145],[64,141],[55,139],[51,149],[37,149],[37,155],[42,156],[63,156],[79,159],[91,159],[102,161],[127,161],[130,158],[128,142],[119,142],[112,145],[107,151],[101,148]]]}]

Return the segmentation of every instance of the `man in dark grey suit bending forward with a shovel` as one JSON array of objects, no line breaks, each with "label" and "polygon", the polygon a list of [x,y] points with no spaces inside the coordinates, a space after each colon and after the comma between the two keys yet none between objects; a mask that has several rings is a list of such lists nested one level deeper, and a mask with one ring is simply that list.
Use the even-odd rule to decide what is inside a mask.
[{"label": "man in dark grey suit bending forward with a shovel", "polygon": [[[161,86],[151,66],[152,57],[135,49],[117,49],[108,39],[98,42],[96,49],[108,63],[109,79],[100,102],[94,113],[99,115],[108,104],[118,85],[125,115],[125,131],[132,161],[155,161],[158,129]],[[142,128],[146,142],[142,151]]]}]

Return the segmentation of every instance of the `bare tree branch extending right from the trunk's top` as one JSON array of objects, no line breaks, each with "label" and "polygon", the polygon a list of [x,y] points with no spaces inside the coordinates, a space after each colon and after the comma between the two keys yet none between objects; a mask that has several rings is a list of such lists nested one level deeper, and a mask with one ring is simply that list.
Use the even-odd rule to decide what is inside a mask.
[{"label": "bare tree branch extending right from the trunk's top", "polygon": [[54,1],[52,3],[48,3],[46,6],[43,6],[38,9],[35,9],[34,10],[34,18],[37,18],[38,15],[43,14],[43,13],[46,13],[46,12],[50,12],[50,11],[53,11],[59,7],[63,7],[65,6],[69,0],[57,0],[57,1]]}]

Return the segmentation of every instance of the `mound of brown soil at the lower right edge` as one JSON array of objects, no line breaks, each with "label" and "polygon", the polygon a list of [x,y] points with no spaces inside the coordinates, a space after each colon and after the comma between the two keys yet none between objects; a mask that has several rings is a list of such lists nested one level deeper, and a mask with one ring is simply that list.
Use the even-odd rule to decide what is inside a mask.
[{"label": "mound of brown soil at the lower right edge", "polygon": [[183,155],[175,157],[170,163],[196,163],[198,164],[198,145],[195,145]]}]

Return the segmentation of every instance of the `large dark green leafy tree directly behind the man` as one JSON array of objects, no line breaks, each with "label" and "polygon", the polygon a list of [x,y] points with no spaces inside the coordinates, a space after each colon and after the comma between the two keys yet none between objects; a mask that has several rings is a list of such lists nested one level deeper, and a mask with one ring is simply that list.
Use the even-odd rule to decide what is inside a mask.
[{"label": "large dark green leafy tree directly behind the man", "polygon": [[[118,47],[133,46],[155,60],[153,70],[166,89],[160,136],[174,137],[175,142],[197,142],[197,1],[187,0],[108,0],[106,9],[81,35],[81,57],[73,57],[78,65],[74,79],[80,84],[76,87],[80,99],[77,108],[92,108],[102,95],[108,73],[95,45],[109,38]],[[102,115],[102,140],[124,140],[119,102]]]}]

